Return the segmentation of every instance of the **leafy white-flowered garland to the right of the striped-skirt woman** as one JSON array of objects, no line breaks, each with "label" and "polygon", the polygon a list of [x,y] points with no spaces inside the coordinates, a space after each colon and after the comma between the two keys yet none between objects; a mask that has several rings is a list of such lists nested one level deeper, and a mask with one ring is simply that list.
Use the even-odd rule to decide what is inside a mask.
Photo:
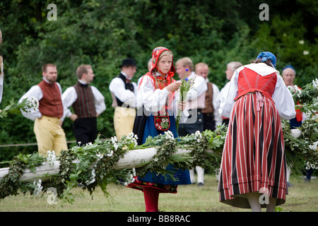
[{"label": "leafy white-flowered garland to the right of the striped-skirt woman", "polygon": [[288,86],[296,109],[305,113],[305,121],[298,128],[301,133],[293,136],[287,120],[282,120],[286,160],[296,172],[303,169],[318,169],[318,79],[312,80],[302,89]]}]

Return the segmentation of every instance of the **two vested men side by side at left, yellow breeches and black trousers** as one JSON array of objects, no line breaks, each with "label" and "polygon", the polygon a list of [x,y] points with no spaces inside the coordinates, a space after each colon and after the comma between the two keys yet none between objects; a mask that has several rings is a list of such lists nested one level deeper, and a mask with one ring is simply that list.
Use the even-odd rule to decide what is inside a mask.
[{"label": "two vested men side by side at left, yellow breeches and black trousers", "polygon": [[[105,98],[93,85],[94,78],[90,65],[78,66],[76,76],[78,81],[62,93],[61,85],[57,83],[57,66],[45,64],[42,66],[43,79],[33,85],[19,100],[36,98],[38,109],[22,112],[23,116],[34,122],[33,131],[37,139],[40,155],[54,151],[56,155],[61,150],[68,150],[66,136],[61,127],[65,117],[73,121],[73,132],[79,145],[94,143],[97,138],[97,117],[105,111]],[[73,113],[71,109],[73,108]]]}]

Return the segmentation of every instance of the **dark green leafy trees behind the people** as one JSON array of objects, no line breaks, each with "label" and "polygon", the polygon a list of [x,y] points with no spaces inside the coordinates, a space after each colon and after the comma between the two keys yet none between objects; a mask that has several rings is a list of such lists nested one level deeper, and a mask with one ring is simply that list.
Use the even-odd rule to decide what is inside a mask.
[{"label": "dark green leafy trees behind the people", "polygon": [[[229,61],[249,64],[261,51],[278,58],[277,69],[293,64],[295,83],[317,77],[318,2],[267,1],[269,20],[259,20],[262,1],[54,1],[57,20],[48,20],[50,1],[1,0],[0,29],[4,43],[4,97],[1,106],[18,100],[30,85],[41,81],[42,64],[57,64],[63,90],[76,78],[80,64],[94,68],[94,85],[105,96],[107,110],[98,117],[98,131],[114,136],[108,86],[119,73],[122,59],[134,57],[134,79],[146,73],[149,49],[165,46],[175,59],[191,57],[211,66],[209,78],[222,88]],[[0,107],[1,109],[1,107]],[[0,143],[33,143],[32,121],[22,116],[1,120]],[[66,138],[73,140],[71,121],[64,121]],[[75,144],[70,144],[75,145]],[[2,148],[0,160],[35,147]]]}]

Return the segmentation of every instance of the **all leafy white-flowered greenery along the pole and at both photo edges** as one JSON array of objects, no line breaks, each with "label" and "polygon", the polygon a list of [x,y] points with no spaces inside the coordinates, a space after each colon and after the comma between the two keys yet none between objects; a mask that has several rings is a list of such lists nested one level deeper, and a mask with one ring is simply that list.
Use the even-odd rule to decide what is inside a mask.
[{"label": "all leafy white-flowered greenery along the pole and at both photo edges", "polygon": [[[318,121],[317,121],[317,94],[318,80],[308,84],[301,91],[295,92],[290,89],[295,102],[302,111],[306,112],[308,118],[300,126],[300,136],[295,138],[290,130],[287,120],[282,120],[286,160],[290,167],[301,172],[304,166],[318,168]],[[30,102],[23,102],[22,107],[30,105]],[[32,103],[32,106],[35,106]],[[6,112],[16,114],[16,109],[21,106],[11,103]],[[14,109],[11,111],[11,108]],[[25,110],[28,107],[24,107]],[[0,116],[1,117],[1,116]],[[216,131],[196,132],[184,137],[173,138],[172,133],[167,131],[163,135],[155,138],[149,137],[143,145],[136,145],[137,137],[134,134],[124,136],[120,141],[114,136],[110,141],[101,141],[100,136],[95,143],[88,143],[83,146],[75,146],[69,150],[61,151],[61,155],[56,157],[49,153],[48,157],[39,156],[37,153],[32,155],[17,155],[11,161],[9,172],[0,181],[0,199],[10,195],[17,195],[18,190],[25,194],[30,191],[32,194],[39,194],[40,191],[48,190],[50,187],[57,189],[57,195],[63,201],[73,203],[74,198],[71,189],[80,184],[83,189],[88,189],[93,194],[95,188],[100,186],[107,198],[110,194],[107,185],[110,183],[122,182],[129,184],[134,182],[134,177],[143,177],[147,172],[156,172],[165,177],[171,177],[172,172],[167,172],[166,166],[170,163],[182,169],[193,169],[196,166],[204,168],[218,169],[225,142],[227,127],[218,126]],[[143,162],[137,169],[114,169],[120,157],[123,157],[128,150],[151,148],[157,149],[153,160]],[[192,150],[189,154],[175,154],[177,148],[187,148]],[[213,150],[208,153],[206,150]],[[52,162],[56,158],[59,160],[59,173],[49,177],[47,182],[21,182],[20,177],[24,169],[35,170],[35,167],[43,162]]]}]

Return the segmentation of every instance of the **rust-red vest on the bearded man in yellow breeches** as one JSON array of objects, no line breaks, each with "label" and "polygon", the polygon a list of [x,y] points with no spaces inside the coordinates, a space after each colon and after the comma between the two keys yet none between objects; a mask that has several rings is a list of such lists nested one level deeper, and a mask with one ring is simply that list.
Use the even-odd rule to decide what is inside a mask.
[{"label": "rust-red vest on the bearded man in yellow breeches", "polygon": [[42,80],[39,84],[43,97],[39,101],[39,110],[42,115],[60,119],[63,116],[61,91],[57,83],[47,83]]}]

